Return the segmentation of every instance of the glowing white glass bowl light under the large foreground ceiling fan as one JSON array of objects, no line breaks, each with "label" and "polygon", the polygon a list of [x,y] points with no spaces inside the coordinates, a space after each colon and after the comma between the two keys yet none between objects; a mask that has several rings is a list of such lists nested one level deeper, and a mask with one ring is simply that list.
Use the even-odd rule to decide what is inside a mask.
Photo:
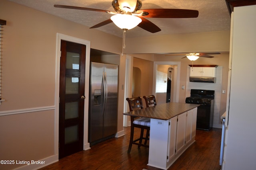
[{"label": "glowing white glass bowl light under the large foreground ceiling fan", "polygon": [[132,29],[142,21],[141,18],[130,14],[116,14],[110,19],[121,29]]}]

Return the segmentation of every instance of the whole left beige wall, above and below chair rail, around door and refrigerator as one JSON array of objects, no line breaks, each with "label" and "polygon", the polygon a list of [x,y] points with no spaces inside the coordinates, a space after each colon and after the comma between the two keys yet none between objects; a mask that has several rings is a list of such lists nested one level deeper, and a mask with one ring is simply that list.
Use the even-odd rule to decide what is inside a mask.
[{"label": "whole left beige wall, above and below chair rail, around door and refrigerator", "polygon": [[[58,160],[56,34],[84,39],[90,41],[94,49],[117,54],[122,51],[122,39],[7,0],[0,1],[0,16],[7,21],[2,45],[2,98],[5,101],[0,106],[0,157],[44,159],[48,164]],[[116,62],[124,64],[120,59]],[[123,66],[120,68],[123,74]],[[120,98],[122,94],[120,92]],[[122,131],[123,102],[119,104],[118,131]],[[23,165],[0,165],[0,169],[18,166]]]}]

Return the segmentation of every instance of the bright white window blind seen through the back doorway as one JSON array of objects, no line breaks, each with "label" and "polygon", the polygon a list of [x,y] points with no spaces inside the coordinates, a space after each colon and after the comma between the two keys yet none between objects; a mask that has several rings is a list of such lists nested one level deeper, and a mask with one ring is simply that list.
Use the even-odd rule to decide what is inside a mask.
[{"label": "bright white window blind seen through the back doorway", "polygon": [[167,73],[156,71],[156,93],[165,93],[167,90]]}]

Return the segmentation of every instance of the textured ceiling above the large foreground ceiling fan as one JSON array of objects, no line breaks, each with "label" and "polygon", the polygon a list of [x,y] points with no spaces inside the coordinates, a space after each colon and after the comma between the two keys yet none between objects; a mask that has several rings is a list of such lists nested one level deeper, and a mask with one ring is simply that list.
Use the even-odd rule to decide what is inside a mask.
[{"label": "textured ceiling above the large foreground ceiling fan", "polygon": [[[54,4],[111,10],[112,0],[9,0],[42,12],[91,27],[108,20],[112,15],[104,12],[54,8]],[[141,0],[142,8],[176,8],[198,10],[198,18],[147,18],[162,31],[150,33],[140,27],[130,29],[126,37],[144,37],[175,33],[196,33],[230,30],[230,15],[225,0]],[[97,28],[122,37],[122,30],[114,23]]]}]

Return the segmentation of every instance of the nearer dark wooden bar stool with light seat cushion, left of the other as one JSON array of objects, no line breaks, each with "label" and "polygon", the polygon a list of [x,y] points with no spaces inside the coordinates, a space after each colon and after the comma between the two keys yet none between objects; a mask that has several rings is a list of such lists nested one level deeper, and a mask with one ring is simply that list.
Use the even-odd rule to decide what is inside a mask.
[{"label": "nearer dark wooden bar stool with light seat cushion, left of the other", "polygon": [[[141,97],[137,98],[126,98],[130,111],[133,111],[134,109],[143,109],[142,99]],[[134,127],[140,128],[140,138],[133,139],[134,135]],[[143,137],[144,129],[146,129],[146,137]],[[150,131],[150,118],[147,117],[136,117],[131,116],[131,133],[130,133],[130,143],[128,147],[128,153],[130,153],[132,149],[132,144],[138,145],[138,148],[140,146],[142,147],[149,147],[147,144],[149,140],[149,131]],[[142,143],[142,140],[145,140],[144,143]]]}]

